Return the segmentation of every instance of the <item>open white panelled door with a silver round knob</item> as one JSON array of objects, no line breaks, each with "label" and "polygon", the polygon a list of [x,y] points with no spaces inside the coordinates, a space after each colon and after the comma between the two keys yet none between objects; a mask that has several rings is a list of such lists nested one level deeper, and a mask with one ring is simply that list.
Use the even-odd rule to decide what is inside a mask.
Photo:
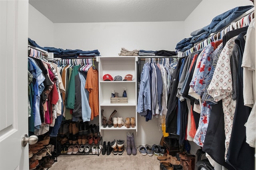
[{"label": "open white panelled door with a silver round knob", "polygon": [[0,170],[28,170],[28,0],[0,0]]}]

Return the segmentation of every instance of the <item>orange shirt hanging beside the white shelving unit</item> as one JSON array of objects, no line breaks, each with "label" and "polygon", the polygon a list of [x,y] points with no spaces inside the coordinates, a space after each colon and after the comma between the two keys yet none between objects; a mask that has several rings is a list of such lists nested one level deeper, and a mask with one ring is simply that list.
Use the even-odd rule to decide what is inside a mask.
[{"label": "orange shirt hanging beside the white shelving unit", "polygon": [[89,105],[92,110],[91,120],[99,115],[99,86],[98,86],[98,70],[88,70],[85,89],[89,92]]}]

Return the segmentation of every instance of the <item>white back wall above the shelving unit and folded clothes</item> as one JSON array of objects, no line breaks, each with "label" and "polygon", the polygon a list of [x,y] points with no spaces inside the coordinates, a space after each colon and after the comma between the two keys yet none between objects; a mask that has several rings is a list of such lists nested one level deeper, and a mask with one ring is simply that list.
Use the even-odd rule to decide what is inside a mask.
[{"label": "white back wall above the shelving unit and folded clothes", "polygon": [[183,22],[112,22],[54,24],[54,45],[58,48],[93,50],[102,56],[128,50],[175,51],[183,36]]}]

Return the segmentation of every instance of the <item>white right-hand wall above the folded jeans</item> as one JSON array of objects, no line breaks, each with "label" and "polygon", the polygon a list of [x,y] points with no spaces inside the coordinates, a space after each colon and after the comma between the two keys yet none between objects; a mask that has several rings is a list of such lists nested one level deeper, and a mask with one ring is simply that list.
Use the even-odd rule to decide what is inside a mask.
[{"label": "white right-hand wall above the folded jeans", "polygon": [[184,21],[184,38],[190,33],[209,25],[212,19],[237,6],[253,5],[250,0],[202,0]]}]

